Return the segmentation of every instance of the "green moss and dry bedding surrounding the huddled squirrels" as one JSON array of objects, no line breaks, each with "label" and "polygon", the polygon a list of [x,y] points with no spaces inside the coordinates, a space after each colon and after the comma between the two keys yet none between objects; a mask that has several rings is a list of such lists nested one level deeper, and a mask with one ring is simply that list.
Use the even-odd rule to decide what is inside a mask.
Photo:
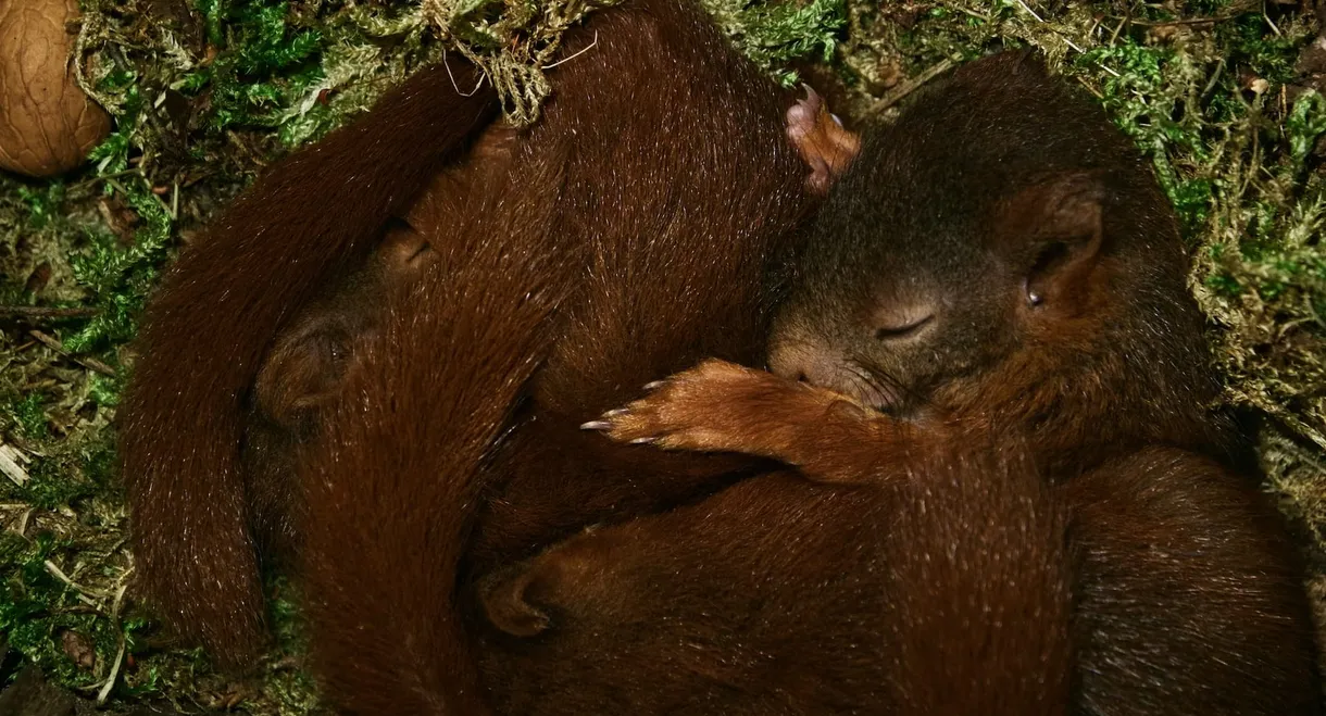
[{"label": "green moss and dry bedding surrounding the huddled squirrels", "polygon": [[[424,5],[84,0],[81,77],[115,131],[58,180],[0,172],[0,686],[37,663],[113,711],[316,708],[281,582],[272,598],[282,646],[244,683],[162,640],[125,599],[133,558],[115,402],[158,270],[264,164],[444,46],[484,60],[507,77],[512,110],[532,113],[544,85],[521,62],[546,57],[554,30],[591,9]],[[1326,599],[1326,41],[1310,3],[707,7],[777,77],[794,81],[789,68],[805,58],[837,73],[850,106],[835,109],[857,117],[887,118],[930,78],[1000,46],[1041,48],[1095,95],[1183,217],[1228,396],[1266,418],[1266,489],[1301,529]],[[439,40],[426,16],[459,21]]]}]

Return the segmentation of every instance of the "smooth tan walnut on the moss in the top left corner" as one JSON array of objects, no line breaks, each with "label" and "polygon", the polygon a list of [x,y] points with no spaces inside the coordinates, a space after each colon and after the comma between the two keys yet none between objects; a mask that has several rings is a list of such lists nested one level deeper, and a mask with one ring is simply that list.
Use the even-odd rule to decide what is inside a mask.
[{"label": "smooth tan walnut on the moss in the top left corner", "polygon": [[73,77],[77,0],[0,0],[0,168],[54,176],[81,164],[110,117]]}]

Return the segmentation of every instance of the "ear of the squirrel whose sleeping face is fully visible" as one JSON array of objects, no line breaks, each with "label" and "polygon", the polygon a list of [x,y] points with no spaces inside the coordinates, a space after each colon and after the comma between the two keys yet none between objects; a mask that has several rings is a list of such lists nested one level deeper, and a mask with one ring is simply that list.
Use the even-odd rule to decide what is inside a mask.
[{"label": "ear of the squirrel whose sleeping face is fully visible", "polygon": [[1099,264],[1105,184],[1097,172],[1053,178],[1006,207],[1005,236],[1024,244],[1024,292],[1033,308],[1071,308]]}]

